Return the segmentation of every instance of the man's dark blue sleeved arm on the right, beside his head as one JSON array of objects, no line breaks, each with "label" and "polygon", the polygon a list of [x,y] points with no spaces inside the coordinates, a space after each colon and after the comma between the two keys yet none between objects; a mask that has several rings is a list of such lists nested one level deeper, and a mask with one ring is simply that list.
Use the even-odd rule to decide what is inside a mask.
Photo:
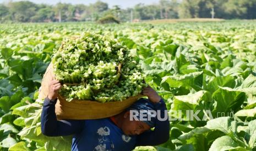
[{"label": "man's dark blue sleeved arm on the right, beside his head", "polygon": [[[160,102],[155,104],[155,109],[160,111],[161,119],[164,119],[166,104],[164,100],[161,99]],[[137,141],[135,146],[156,146],[162,143],[165,143],[169,140],[170,133],[170,122],[167,120],[160,121],[156,118],[155,129],[146,131],[141,135],[137,136]]]}]

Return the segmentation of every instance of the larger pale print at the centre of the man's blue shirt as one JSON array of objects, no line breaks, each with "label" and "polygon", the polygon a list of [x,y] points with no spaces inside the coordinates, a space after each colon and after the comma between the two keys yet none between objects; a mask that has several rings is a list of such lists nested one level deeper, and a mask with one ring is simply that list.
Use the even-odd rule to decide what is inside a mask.
[{"label": "larger pale print at the centre of the man's blue shirt", "polygon": [[108,137],[110,135],[110,128],[107,126],[100,127],[100,129],[97,130],[97,133],[99,135],[99,143],[94,148],[94,151],[112,151],[114,150],[114,144]]}]

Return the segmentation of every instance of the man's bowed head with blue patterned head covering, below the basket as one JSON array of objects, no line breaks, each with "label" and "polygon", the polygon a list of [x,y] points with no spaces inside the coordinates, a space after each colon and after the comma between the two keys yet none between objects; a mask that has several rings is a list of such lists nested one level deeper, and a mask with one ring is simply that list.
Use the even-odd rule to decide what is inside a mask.
[{"label": "man's bowed head with blue patterned head covering, below the basket", "polygon": [[119,115],[119,127],[126,135],[140,135],[155,126],[155,115],[151,111],[154,111],[154,105],[148,99],[141,98]]}]

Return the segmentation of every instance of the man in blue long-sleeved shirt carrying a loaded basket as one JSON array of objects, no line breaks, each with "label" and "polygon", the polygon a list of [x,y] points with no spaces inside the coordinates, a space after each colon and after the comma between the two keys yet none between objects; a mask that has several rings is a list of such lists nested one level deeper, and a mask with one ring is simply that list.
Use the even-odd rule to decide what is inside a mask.
[{"label": "man in blue long-sleeved shirt carrying a loaded basket", "polygon": [[[55,79],[48,86],[41,130],[46,136],[73,135],[72,150],[133,150],[136,146],[156,146],[169,138],[169,121],[161,120],[166,116],[166,104],[150,86],[142,92],[149,99],[141,98],[113,117],[94,120],[57,120],[55,104],[61,88]],[[156,112],[160,116],[152,111],[160,111]]]}]

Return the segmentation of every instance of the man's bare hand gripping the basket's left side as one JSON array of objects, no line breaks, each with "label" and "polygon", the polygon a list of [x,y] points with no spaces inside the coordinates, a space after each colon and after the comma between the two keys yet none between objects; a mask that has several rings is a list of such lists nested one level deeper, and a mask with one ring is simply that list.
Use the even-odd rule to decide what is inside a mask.
[{"label": "man's bare hand gripping the basket's left side", "polygon": [[61,83],[58,80],[53,79],[48,85],[48,98],[50,100],[55,100],[58,97],[58,91],[62,88]]}]

